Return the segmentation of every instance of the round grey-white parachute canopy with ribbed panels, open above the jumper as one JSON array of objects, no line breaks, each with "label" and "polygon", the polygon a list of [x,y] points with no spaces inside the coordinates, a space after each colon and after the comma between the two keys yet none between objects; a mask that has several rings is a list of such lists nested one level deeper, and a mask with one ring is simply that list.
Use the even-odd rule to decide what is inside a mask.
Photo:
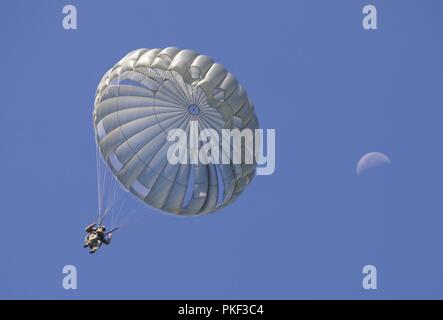
[{"label": "round grey-white parachute canopy with ribbed panels, open above the jumper", "polygon": [[[253,179],[255,161],[172,164],[167,160],[174,143],[168,133],[181,129],[189,137],[192,121],[219,134],[223,129],[258,128],[246,91],[211,58],[173,47],[127,54],[106,72],[95,96],[98,164],[106,166],[97,169],[99,198],[113,197],[109,188],[103,194],[104,186],[111,184],[178,215],[200,215],[232,203]],[[103,170],[112,177],[103,175]]]}]

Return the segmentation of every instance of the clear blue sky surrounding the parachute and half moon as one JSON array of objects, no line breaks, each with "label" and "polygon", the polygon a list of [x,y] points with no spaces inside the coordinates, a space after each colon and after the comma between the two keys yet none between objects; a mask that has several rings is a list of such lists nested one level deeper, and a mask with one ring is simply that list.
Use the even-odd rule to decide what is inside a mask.
[{"label": "clear blue sky surrounding the parachute and half moon", "polygon": [[[378,30],[362,28],[375,4]],[[78,30],[64,30],[74,4]],[[443,3],[4,1],[1,298],[443,298]],[[197,218],[145,207],[92,256],[92,108],[137,48],[224,64],[277,131],[276,171]],[[391,165],[357,176],[365,153]],[[78,289],[62,287],[63,266]],[[362,268],[378,290],[362,289]]]}]

